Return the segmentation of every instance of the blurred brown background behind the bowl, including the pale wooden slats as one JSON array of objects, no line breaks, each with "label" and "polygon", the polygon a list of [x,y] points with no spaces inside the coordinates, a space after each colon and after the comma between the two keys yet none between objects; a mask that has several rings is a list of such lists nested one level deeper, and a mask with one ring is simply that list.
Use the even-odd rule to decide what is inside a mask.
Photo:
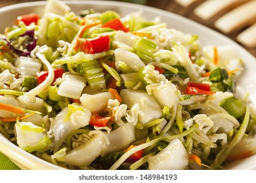
[{"label": "blurred brown background behind the bowl, including the pale wooden slats", "polygon": [[[0,7],[30,1],[42,0],[0,0]],[[256,57],[256,0],[118,1],[160,8],[194,20],[238,42]]]}]

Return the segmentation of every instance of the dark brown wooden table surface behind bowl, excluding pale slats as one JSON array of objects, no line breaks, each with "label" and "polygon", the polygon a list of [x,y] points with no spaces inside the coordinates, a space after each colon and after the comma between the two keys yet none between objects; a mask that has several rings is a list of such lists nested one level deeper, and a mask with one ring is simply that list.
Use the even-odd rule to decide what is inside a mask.
[{"label": "dark brown wooden table surface behind bowl, excluding pale slats", "polygon": [[[24,3],[24,2],[30,2],[30,1],[42,1],[42,0],[0,0],[0,8],[5,7],[7,5],[13,5],[16,3]],[[193,13],[194,8],[196,8],[198,5],[200,5],[200,3],[202,3],[203,1],[205,1],[205,0],[198,0],[198,1],[196,1],[196,3],[193,3],[189,7],[182,7],[181,5],[176,3],[175,0],[147,0],[146,5],[150,6],[150,7],[156,7],[156,8],[160,8],[163,10],[167,10],[167,11],[173,12],[175,14],[179,14],[181,16],[184,16],[186,18],[189,18],[191,20],[199,22],[200,24],[206,25],[207,27],[210,27],[211,29],[215,29],[216,31],[218,31],[213,26],[214,19],[205,21]],[[242,30],[235,31],[226,36],[230,37],[230,39],[233,39],[234,41],[236,41],[235,40],[236,36],[240,33],[240,31],[242,31]],[[242,46],[244,46],[244,45],[242,45]],[[256,48],[247,48],[246,46],[244,46],[244,48],[246,50],[248,50],[253,56],[256,57]]]}]

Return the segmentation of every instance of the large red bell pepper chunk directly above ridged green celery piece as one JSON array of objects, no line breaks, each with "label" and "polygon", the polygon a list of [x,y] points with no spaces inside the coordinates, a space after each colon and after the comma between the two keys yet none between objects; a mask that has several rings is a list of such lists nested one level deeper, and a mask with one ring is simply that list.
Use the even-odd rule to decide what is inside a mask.
[{"label": "large red bell pepper chunk directly above ridged green celery piece", "polygon": [[98,54],[110,50],[110,36],[104,35],[95,39],[86,39],[80,46],[86,54]]}]

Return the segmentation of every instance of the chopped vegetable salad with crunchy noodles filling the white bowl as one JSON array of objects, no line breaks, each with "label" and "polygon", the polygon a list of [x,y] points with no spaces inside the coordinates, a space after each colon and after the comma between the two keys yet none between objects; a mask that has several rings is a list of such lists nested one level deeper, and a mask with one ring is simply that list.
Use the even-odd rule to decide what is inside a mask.
[{"label": "chopped vegetable salad with crunchy noodles filling the white bowl", "polygon": [[0,66],[1,134],[54,165],[224,169],[255,154],[238,52],[159,17],[49,0],[1,33]]}]

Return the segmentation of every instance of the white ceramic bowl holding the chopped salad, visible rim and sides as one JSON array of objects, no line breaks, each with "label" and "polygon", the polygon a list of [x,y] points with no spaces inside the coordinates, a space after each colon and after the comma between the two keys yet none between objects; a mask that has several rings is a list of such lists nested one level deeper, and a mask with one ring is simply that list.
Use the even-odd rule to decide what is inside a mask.
[{"label": "white ceramic bowl holding the chopped salad, visible rim and sides", "polygon": [[[21,3],[4,7],[0,9],[0,31],[3,33],[5,27],[15,24],[16,17],[21,14],[28,14],[31,12],[37,12],[39,15],[43,13],[43,9],[46,1],[37,1],[32,3]],[[249,90],[250,97],[253,103],[256,104],[256,84],[253,82],[256,78],[256,59],[249,54],[242,46],[236,42],[224,37],[220,33],[208,29],[203,25],[197,24],[191,20],[172,14],[164,10],[157,8],[146,7],[143,5],[135,5],[130,3],[121,3],[117,1],[64,1],[71,7],[74,12],[79,10],[94,8],[100,12],[105,10],[115,10],[121,16],[125,16],[129,12],[138,10],[143,11],[143,16],[147,19],[154,19],[156,16],[160,16],[161,22],[166,22],[169,28],[175,28],[183,31],[184,33],[190,33],[198,35],[200,38],[201,45],[227,45],[230,44],[238,50],[239,54],[245,63],[245,72],[240,79],[240,86]],[[32,154],[25,152],[18,148],[11,142],[9,142],[3,135],[0,134],[0,151],[8,156],[16,165],[21,169],[62,169],[56,165],[43,161],[42,159],[36,158]],[[227,169],[256,169],[256,156],[235,161],[228,165]]]}]

